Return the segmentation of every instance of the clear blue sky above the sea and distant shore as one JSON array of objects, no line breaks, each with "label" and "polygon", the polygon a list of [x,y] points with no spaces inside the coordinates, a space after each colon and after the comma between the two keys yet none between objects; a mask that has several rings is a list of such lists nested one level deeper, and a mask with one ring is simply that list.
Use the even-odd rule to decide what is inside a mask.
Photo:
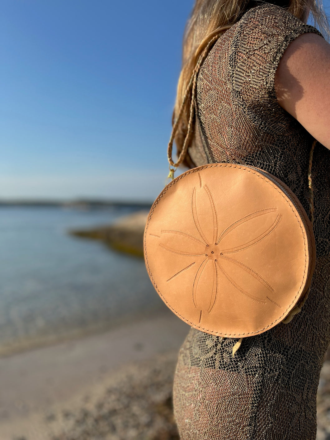
[{"label": "clear blue sky above the sea and distant shore", "polygon": [[193,0],[0,4],[0,198],[152,201]]}]

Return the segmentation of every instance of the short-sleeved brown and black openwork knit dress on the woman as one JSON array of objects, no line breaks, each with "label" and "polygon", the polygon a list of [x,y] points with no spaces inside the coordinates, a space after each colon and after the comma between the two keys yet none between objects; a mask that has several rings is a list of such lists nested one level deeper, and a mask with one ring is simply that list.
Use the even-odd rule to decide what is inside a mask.
[{"label": "short-sleeved brown and black openwork knit dress on the woman", "polygon": [[[262,4],[216,41],[198,73],[196,166],[253,165],[277,176],[308,213],[312,137],[279,106],[274,76],[288,44],[318,33]],[[289,324],[238,339],[191,328],[180,348],[173,404],[181,440],[314,440],[316,392],[330,337],[330,150],[313,157],[316,267],[302,311]]]}]

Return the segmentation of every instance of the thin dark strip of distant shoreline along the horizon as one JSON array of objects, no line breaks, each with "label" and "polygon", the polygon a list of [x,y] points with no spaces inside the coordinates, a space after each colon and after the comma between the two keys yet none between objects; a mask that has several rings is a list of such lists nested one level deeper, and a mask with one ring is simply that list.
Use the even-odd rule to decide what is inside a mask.
[{"label": "thin dark strip of distant shoreline along the horizon", "polygon": [[120,201],[120,200],[98,200],[98,199],[76,199],[76,200],[47,200],[47,199],[14,199],[0,200],[0,208],[20,206],[28,208],[39,207],[60,207],[77,209],[100,209],[100,208],[141,208],[150,209],[151,202]]}]

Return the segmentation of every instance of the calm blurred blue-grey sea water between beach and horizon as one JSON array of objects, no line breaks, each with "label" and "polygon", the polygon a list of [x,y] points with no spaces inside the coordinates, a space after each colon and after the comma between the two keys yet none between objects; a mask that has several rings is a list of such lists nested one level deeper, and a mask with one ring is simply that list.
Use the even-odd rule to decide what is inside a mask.
[{"label": "calm blurred blue-grey sea water between beach and horizon", "polygon": [[143,259],[76,238],[132,208],[0,208],[0,353],[110,328],[161,309]]}]

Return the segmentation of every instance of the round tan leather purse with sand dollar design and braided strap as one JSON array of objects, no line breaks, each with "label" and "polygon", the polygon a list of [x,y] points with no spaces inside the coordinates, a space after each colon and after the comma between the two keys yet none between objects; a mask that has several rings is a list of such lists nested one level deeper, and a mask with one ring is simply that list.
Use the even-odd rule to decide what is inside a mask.
[{"label": "round tan leather purse with sand dollar design and braided strap", "polygon": [[[197,71],[189,85],[192,101]],[[190,122],[193,112],[191,105]],[[168,150],[172,178],[189,138],[188,132],[174,163],[176,127],[177,123]],[[232,163],[184,172],[164,188],[150,209],[144,257],[154,288],[190,326],[240,338],[233,355],[243,337],[290,322],[308,296],[315,267],[311,180],[315,143],[306,179],[311,219],[277,177]]]}]

